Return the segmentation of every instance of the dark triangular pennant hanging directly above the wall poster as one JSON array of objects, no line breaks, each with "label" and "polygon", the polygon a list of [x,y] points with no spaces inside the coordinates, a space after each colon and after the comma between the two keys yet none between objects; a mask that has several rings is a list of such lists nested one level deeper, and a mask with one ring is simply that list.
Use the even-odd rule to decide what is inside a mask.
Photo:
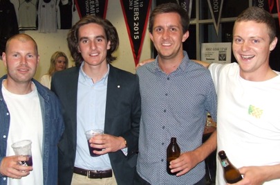
[{"label": "dark triangular pennant hanging directly above the wall poster", "polygon": [[208,6],[210,8],[210,12],[212,18],[214,18],[214,27],[216,30],[216,34],[218,35],[218,28],[220,26],[222,8],[223,8],[223,0],[207,0]]}]

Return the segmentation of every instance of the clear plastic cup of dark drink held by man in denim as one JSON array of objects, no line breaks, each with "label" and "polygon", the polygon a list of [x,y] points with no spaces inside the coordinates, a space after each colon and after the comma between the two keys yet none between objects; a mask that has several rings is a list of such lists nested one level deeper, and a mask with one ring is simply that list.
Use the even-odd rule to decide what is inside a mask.
[{"label": "clear plastic cup of dark drink held by man in denim", "polygon": [[12,144],[12,149],[15,155],[24,155],[28,157],[27,161],[19,161],[19,164],[23,166],[32,166],[32,153],[31,153],[31,143],[30,140],[22,140]]}]

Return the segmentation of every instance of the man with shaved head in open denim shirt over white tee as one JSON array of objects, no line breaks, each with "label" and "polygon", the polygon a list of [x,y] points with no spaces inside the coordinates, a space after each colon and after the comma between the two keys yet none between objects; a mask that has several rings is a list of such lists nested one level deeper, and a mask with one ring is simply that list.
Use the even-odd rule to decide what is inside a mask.
[{"label": "man with shaved head in open denim shirt over white tee", "polygon": [[[10,37],[2,54],[8,74],[0,79],[0,184],[57,184],[57,143],[64,131],[55,94],[33,79],[39,64],[32,37]],[[21,166],[12,143],[32,141],[33,166]]]}]

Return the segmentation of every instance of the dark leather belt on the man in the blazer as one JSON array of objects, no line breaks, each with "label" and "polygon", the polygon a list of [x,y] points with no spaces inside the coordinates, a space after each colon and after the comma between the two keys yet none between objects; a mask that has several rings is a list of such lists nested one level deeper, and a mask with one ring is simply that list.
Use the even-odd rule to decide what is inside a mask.
[{"label": "dark leather belt on the man in the blazer", "polygon": [[112,170],[84,170],[82,168],[74,167],[74,173],[84,175],[89,179],[102,179],[112,177]]}]

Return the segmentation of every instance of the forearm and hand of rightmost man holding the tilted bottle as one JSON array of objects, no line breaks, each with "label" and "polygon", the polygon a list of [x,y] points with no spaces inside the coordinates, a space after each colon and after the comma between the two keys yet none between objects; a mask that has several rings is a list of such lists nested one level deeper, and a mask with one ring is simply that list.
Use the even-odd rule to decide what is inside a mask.
[{"label": "forearm and hand of rightmost man holding the tilted bottle", "polygon": [[280,164],[272,166],[246,166],[239,169],[243,180],[234,185],[261,185],[273,179],[280,179]]}]

